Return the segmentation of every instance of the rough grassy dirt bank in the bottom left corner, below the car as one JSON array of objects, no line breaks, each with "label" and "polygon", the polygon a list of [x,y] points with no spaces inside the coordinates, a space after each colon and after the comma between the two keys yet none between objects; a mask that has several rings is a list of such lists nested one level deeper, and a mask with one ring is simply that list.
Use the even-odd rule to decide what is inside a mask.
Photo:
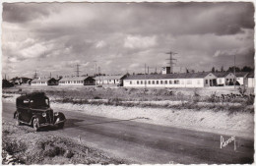
[{"label": "rough grassy dirt bank in the bottom left corner, below the car", "polygon": [[2,164],[122,164],[94,148],[52,133],[34,133],[25,126],[4,122]]}]

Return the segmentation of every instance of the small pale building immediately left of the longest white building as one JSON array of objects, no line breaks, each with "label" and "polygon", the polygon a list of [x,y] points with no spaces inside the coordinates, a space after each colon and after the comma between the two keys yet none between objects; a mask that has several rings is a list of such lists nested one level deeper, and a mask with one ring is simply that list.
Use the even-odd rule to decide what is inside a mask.
[{"label": "small pale building immediately left of the longest white building", "polygon": [[126,75],[117,76],[97,76],[96,84],[121,84]]}]

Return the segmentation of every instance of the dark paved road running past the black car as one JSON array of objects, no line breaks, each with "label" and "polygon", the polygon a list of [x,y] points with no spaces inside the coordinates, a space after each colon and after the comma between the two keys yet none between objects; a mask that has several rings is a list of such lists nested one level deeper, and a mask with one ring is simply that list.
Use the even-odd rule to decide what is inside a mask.
[{"label": "dark paved road running past the black car", "polygon": [[[3,119],[13,121],[15,105],[3,103]],[[60,111],[55,109],[54,111]],[[231,164],[253,162],[253,140],[235,138],[220,148],[221,136],[179,128],[116,120],[61,110],[67,123],[54,135],[81,139],[111,156],[138,164]],[[47,132],[47,131],[44,131]],[[224,136],[224,140],[230,136]]]}]

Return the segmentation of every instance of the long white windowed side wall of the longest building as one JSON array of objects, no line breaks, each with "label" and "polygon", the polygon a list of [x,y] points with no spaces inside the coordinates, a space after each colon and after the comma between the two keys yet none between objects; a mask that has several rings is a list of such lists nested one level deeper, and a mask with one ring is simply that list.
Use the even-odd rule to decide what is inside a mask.
[{"label": "long white windowed side wall of the longest building", "polygon": [[[146,85],[145,85],[146,83]],[[124,80],[127,87],[203,87],[203,79]]]}]

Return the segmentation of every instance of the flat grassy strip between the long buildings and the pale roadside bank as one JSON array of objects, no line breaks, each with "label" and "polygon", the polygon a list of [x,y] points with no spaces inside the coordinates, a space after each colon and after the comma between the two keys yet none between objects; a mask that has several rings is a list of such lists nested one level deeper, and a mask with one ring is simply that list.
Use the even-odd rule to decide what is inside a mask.
[{"label": "flat grassy strip between the long buildings and the pale roadside bank", "polygon": [[[44,91],[51,101],[73,104],[105,104],[175,109],[226,110],[229,113],[254,112],[254,97],[217,99],[222,94],[239,94],[233,86],[206,88],[126,88],[95,86],[29,86],[22,85],[3,89],[3,93],[29,93]],[[254,94],[248,88],[245,94]],[[172,104],[168,101],[178,101]]]}]

